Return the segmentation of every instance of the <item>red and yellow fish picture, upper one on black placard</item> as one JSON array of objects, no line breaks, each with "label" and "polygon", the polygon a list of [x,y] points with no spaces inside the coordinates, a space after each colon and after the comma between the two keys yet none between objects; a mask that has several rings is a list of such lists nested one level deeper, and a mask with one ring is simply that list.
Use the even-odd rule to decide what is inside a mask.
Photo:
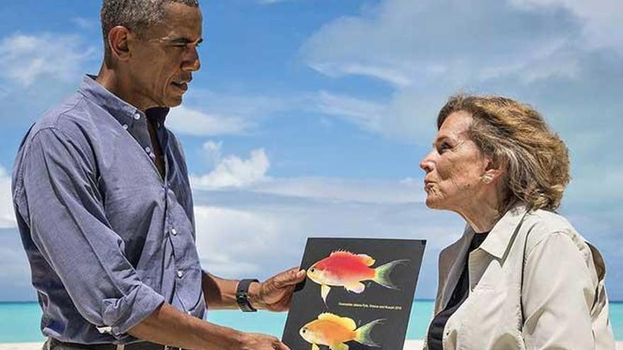
[{"label": "red and yellow fish picture, upper one on black placard", "polygon": [[347,291],[362,293],[365,290],[362,281],[375,281],[381,286],[398,289],[398,286],[389,279],[389,274],[397,265],[406,264],[408,259],[395,260],[373,268],[375,262],[370,255],[338,250],[312,264],[307,269],[307,276],[311,281],[320,284],[320,293],[325,305],[331,286],[343,286]]}]

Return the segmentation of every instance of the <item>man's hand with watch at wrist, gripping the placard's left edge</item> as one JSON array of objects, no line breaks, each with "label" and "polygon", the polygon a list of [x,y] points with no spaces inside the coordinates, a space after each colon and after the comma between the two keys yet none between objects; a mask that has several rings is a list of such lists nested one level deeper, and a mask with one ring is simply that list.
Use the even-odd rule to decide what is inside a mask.
[{"label": "man's hand with watch at wrist, gripping the placard's left edge", "polygon": [[[286,311],[290,308],[295,286],[305,279],[305,270],[298,267],[276,274],[262,283],[249,286],[249,300],[253,308]],[[275,348],[280,349],[280,348]]]}]

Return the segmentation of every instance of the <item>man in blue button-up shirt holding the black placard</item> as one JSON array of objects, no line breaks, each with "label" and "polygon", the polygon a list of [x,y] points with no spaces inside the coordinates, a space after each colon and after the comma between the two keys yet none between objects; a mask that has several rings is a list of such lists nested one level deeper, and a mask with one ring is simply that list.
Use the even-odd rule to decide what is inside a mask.
[{"label": "man in blue button-up shirt holding the black placard", "polygon": [[287,349],[202,320],[206,304],[287,310],[304,271],[239,283],[200,268],[183,151],[164,127],[200,68],[197,0],[104,0],[102,26],[98,76],[30,129],[13,168],[45,349]]}]

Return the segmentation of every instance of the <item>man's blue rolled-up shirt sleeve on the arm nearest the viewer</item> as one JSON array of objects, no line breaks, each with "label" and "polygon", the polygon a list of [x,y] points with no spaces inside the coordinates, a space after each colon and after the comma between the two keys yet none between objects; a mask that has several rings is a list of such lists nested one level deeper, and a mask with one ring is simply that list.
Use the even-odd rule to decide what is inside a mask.
[{"label": "man's blue rolled-up shirt sleeve on the arm nearest the viewer", "polygon": [[39,130],[23,153],[16,206],[82,317],[120,338],[164,297],[142,283],[110,228],[85,144],[59,129]]}]

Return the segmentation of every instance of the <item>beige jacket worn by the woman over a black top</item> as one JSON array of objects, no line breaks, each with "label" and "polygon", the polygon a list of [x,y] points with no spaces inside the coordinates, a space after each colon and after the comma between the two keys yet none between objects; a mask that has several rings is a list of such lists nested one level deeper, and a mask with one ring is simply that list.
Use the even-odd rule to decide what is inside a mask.
[{"label": "beige jacket worn by the woman over a black top", "polygon": [[[473,236],[467,226],[440,253],[435,315],[452,296]],[[469,296],[445,325],[444,350],[615,349],[603,259],[564,217],[526,214],[519,204],[468,264]]]}]

